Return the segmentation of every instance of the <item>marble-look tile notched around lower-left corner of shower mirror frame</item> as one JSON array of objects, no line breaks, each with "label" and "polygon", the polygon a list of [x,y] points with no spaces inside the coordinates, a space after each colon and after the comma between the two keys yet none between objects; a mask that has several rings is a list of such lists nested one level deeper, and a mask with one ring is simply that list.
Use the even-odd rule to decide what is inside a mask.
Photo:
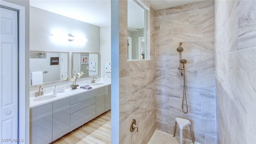
[{"label": "marble-look tile notched around lower-left corner of shower mirror frame", "polygon": [[130,62],[127,61],[127,55],[119,55],[119,78],[130,74]]}]

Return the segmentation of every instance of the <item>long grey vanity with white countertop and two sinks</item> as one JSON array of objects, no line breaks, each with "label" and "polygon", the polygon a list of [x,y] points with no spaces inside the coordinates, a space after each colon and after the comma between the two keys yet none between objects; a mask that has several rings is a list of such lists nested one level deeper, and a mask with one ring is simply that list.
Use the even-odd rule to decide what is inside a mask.
[{"label": "long grey vanity with white countertop and two sinks", "polygon": [[[51,96],[50,94],[45,97]],[[30,143],[48,144],[110,110],[110,83],[67,89],[50,100],[30,98]]]}]

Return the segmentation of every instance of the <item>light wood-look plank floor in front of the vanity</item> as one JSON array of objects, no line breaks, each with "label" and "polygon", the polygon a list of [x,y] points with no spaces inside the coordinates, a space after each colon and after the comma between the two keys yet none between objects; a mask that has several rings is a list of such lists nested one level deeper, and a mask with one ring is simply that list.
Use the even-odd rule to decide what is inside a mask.
[{"label": "light wood-look plank floor in front of the vanity", "polygon": [[108,110],[52,144],[111,144],[111,111]]}]

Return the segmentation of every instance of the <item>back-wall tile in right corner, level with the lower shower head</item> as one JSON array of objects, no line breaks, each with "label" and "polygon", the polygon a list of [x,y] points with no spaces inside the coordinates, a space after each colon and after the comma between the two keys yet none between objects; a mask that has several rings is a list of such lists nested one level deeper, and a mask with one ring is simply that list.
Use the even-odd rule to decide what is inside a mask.
[{"label": "back-wall tile in right corner, level with the lower shower head", "polygon": [[215,68],[214,55],[194,56],[194,70],[214,71],[214,68]]}]

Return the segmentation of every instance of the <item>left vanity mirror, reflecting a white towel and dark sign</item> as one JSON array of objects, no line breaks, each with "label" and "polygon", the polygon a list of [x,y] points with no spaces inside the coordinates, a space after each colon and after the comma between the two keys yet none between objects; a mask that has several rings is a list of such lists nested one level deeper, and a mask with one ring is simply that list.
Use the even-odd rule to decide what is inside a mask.
[{"label": "left vanity mirror, reflecting a white towel and dark sign", "polygon": [[68,52],[30,51],[30,86],[68,80]]}]

